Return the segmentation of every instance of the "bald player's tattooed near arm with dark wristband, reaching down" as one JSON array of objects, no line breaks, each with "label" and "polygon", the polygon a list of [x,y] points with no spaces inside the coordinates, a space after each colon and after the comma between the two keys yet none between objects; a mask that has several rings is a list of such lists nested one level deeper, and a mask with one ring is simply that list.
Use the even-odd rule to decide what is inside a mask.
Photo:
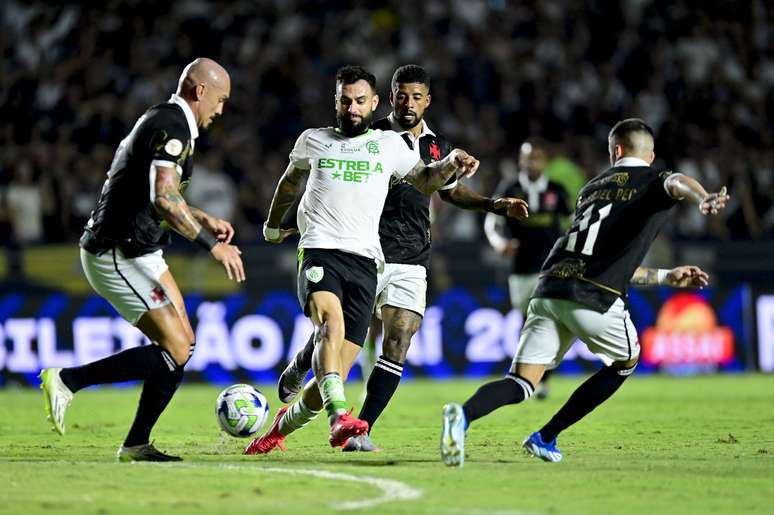
[{"label": "bald player's tattooed near arm with dark wristband, reaching down", "polygon": [[[180,175],[178,175],[177,170],[168,166],[156,166],[156,180],[153,186],[154,191],[151,192],[153,205],[156,207],[156,211],[164,218],[164,221],[183,237],[197,243],[210,252],[212,257],[224,266],[229,279],[237,282],[244,281],[245,270],[240,257],[242,252],[234,245],[219,242],[213,235],[218,233],[215,231],[210,232],[210,229],[202,227],[202,224],[194,216],[194,212],[192,212],[180,193]],[[197,214],[203,213],[203,211],[198,209],[194,208],[194,210]],[[214,217],[209,218],[213,221],[218,220]],[[217,222],[213,223],[215,226],[224,229]],[[231,224],[228,224],[228,227],[230,228]],[[233,236],[233,232],[234,230],[231,229],[231,236]],[[231,237],[228,235],[227,229],[223,237],[228,238],[230,241]]]}]

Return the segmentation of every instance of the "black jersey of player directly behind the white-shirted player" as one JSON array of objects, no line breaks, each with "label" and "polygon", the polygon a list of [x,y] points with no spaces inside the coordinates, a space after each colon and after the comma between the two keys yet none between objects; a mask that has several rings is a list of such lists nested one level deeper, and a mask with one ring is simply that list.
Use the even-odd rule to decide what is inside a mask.
[{"label": "black jersey of player directly behind the white-shirted player", "polygon": [[[373,124],[374,129],[393,130],[389,118],[382,118]],[[416,142],[403,135],[406,145],[414,149],[419,146],[419,156],[425,164],[440,161],[451,152],[446,138],[425,134]],[[452,177],[447,185],[457,180]],[[425,195],[404,179],[393,177],[384,201],[384,210],[379,220],[379,239],[387,263],[430,266],[430,196]]]}]

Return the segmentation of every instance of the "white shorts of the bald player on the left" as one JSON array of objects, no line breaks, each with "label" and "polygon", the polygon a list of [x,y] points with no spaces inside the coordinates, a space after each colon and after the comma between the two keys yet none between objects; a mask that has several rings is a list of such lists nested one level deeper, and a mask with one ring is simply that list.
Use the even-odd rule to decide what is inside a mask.
[{"label": "white shorts of the bald player on the left", "polygon": [[132,325],[146,311],[170,303],[160,282],[168,268],[161,250],[128,259],[118,249],[101,256],[81,249],[81,265],[94,291]]}]

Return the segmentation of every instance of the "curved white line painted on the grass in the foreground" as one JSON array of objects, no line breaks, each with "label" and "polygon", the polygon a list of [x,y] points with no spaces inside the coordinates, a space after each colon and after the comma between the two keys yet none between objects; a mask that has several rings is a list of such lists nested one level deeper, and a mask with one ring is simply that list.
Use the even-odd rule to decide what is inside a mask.
[{"label": "curved white line painted on the grass in the foreground", "polygon": [[[171,465],[174,468],[180,465]],[[422,497],[422,490],[412,488],[406,483],[402,483],[395,479],[384,479],[373,476],[354,476],[352,474],[342,474],[341,472],[330,472],[328,470],[314,470],[314,469],[295,469],[295,468],[283,468],[283,467],[255,467],[255,466],[243,466],[236,464],[213,464],[207,465],[204,463],[188,463],[186,467],[207,467],[216,466],[224,469],[234,470],[253,470],[256,472],[278,472],[281,474],[301,475],[301,476],[313,476],[321,479],[333,479],[338,481],[353,481],[355,483],[366,483],[382,491],[382,495],[379,497],[372,497],[368,499],[361,499],[359,501],[337,501],[331,503],[331,508],[336,510],[358,510],[361,508],[370,508],[378,504],[384,504],[393,501],[410,501]]]}]

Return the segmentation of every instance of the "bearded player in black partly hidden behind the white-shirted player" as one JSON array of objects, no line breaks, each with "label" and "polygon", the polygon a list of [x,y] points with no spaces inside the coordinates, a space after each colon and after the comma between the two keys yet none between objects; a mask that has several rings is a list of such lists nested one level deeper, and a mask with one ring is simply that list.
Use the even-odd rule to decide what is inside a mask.
[{"label": "bearded player in black partly hidden behind the white-shirted player", "polygon": [[[390,83],[392,113],[374,122],[373,128],[397,132],[427,164],[440,161],[452,146],[424,120],[430,102],[430,77],[424,68],[412,64],[401,66]],[[438,193],[446,202],[464,209],[527,216],[527,204],[523,200],[481,196],[458,182],[456,176]],[[406,180],[393,180],[379,221],[379,238],[386,263],[378,277],[375,313],[384,323],[384,339],[382,355],[368,379],[359,415],[368,422],[369,432],[398,388],[411,338],[425,312],[430,267],[430,196]],[[310,338],[282,373],[278,387],[283,402],[289,402],[299,391],[311,367],[313,350]],[[350,438],[342,450],[372,451],[375,447],[368,435],[361,435]]]}]

